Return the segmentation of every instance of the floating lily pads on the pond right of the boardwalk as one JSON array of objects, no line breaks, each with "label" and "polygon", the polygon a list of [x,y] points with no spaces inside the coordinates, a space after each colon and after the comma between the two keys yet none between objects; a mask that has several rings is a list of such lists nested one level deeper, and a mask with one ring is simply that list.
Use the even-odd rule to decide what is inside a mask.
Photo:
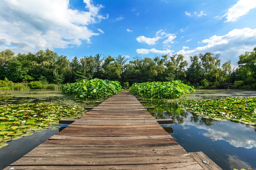
[{"label": "floating lily pads on the pond right of the boardwalk", "polygon": [[256,125],[256,98],[225,98],[214,100],[179,100],[187,111],[205,118]]}]

